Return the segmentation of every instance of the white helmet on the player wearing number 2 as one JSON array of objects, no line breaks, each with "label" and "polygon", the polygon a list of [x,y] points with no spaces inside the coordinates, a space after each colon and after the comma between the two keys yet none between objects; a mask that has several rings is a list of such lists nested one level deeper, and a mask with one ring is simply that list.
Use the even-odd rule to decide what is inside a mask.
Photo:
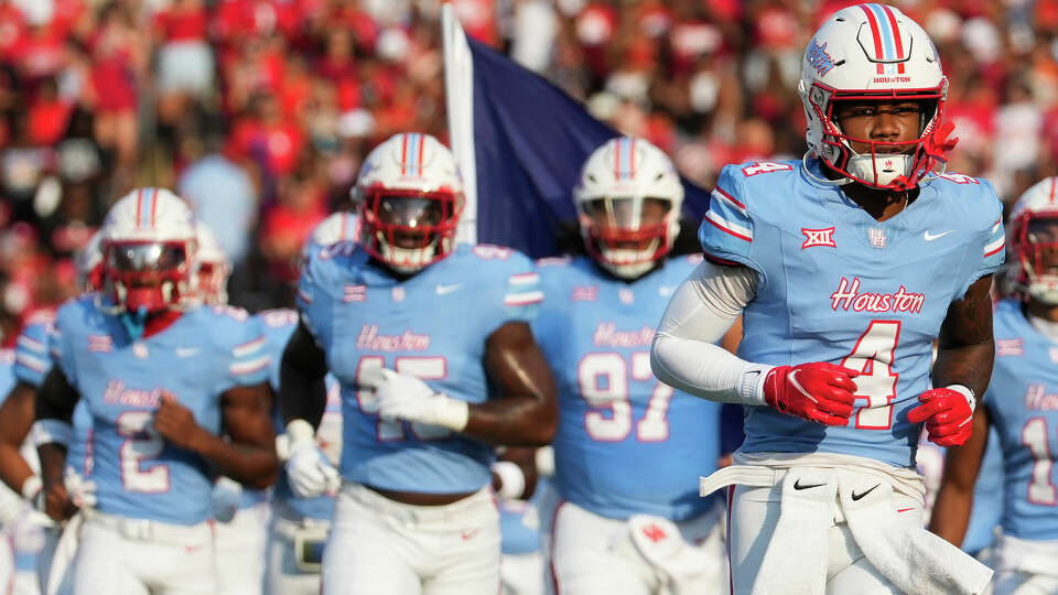
[{"label": "white helmet on the player wearing number 2", "polygon": [[121,197],[102,224],[104,290],[119,312],[150,313],[195,298],[197,229],[168,190]]}]

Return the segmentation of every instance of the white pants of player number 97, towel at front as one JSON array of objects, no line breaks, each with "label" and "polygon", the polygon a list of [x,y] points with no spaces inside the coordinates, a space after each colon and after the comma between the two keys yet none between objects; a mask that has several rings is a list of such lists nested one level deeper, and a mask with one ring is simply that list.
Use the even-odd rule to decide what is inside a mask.
[{"label": "white pants of player number 97, towel at front", "polygon": [[719,520],[715,510],[679,523],[608,519],[562,502],[552,521],[553,586],[559,595],[726,593]]}]

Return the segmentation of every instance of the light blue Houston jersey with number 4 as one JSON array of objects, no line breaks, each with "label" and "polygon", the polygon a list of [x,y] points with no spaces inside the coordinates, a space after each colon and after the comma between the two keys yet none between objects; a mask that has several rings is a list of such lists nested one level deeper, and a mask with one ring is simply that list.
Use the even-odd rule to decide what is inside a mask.
[{"label": "light blue Houston jersey with number 4", "polygon": [[[819,162],[811,160],[822,177]],[[848,426],[746,411],[743,453],[839,453],[915,465],[907,421],[929,389],[932,343],[952,301],[1003,263],[1002,205],[983,180],[944,174],[877,221],[800,160],[723,169],[699,231],[705,253],[757,272],[738,356],[855,369]]]}]

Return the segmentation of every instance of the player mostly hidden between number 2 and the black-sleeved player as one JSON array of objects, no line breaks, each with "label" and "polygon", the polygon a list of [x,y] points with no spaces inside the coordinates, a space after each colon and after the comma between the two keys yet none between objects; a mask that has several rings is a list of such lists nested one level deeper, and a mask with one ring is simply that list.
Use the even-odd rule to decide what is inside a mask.
[{"label": "player mostly hidden between number 2 and the black-sleeved player", "polygon": [[[358,226],[353,213],[334,213],[321,221],[305,245],[304,257],[341,241],[355,241]],[[279,391],[279,364],[283,348],[298,327],[294,310],[268,310],[258,314],[264,329],[267,349],[273,355],[269,382]],[[331,465],[338,464],[342,453],[342,398],[333,376],[326,377],[326,407],[316,428],[316,445]],[[278,411],[277,411],[278,413]],[[277,415],[282,428],[282,420]],[[289,456],[285,435],[278,443],[280,458]],[[272,524],[266,560],[264,592],[269,595],[316,595],[320,593],[320,569],[331,519],[334,516],[334,496],[338,488],[338,473],[331,473],[330,489],[319,496],[300,498],[294,495],[285,469],[280,469],[272,498]]]}]

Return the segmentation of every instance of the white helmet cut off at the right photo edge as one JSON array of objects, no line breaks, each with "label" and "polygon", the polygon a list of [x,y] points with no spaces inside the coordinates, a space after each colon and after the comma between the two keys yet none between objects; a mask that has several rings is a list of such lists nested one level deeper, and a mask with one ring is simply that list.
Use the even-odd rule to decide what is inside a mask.
[{"label": "white helmet cut off at the right photo edge", "polygon": [[1058,305],[1058,177],[1025,191],[1011,212],[1010,281],[1022,296]]}]

